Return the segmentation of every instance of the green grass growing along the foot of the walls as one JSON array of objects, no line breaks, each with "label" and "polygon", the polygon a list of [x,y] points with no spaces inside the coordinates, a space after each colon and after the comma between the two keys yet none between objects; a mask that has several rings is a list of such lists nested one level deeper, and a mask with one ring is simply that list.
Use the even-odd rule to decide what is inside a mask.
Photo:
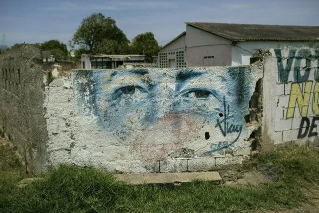
[{"label": "green grass growing along the foot of the walls", "polygon": [[15,184],[23,174],[12,170],[0,171],[3,212],[278,211],[311,202],[305,191],[318,191],[319,151],[292,146],[253,157],[242,171],[264,171],[277,180],[257,186],[199,180],[175,187],[128,186],[92,167],[61,165],[20,188]]}]

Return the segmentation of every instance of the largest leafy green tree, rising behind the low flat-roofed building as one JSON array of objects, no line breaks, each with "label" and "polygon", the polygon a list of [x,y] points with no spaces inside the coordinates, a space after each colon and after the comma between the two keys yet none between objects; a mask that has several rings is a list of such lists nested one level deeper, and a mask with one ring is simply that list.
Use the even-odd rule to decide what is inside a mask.
[{"label": "largest leafy green tree, rising behind the low flat-roofed building", "polygon": [[[105,17],[102,13],[93,13],[82,20],[69,44],[73,47],[77,44],[89,53],[124,53],[129,42],[114,19]],[[108,52],[107,48],[110,47]]]}]

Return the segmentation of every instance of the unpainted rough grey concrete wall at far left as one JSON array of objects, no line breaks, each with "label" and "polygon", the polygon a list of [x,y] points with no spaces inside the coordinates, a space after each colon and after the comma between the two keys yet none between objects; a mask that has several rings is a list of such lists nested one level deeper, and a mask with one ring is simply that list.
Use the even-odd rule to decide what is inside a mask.
[{"label": "unpainted rough grey concrete wall at far left", "polygon": [[0,54],[0,132],[41,173],[46,165],[42,54],[39,45],[20,44]]}]

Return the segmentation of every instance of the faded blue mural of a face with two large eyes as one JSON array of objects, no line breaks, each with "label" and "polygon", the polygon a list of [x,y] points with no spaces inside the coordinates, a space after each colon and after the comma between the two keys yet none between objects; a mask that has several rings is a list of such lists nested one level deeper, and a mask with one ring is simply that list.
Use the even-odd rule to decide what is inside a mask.
[{"label": "faded blue mural of a face with two large eyes", "polygon": [[182,148],[209,155],[236,142],[245,125],[250,91],[238,67],[85,71],[99,125],[135,158],[154,163]]}]

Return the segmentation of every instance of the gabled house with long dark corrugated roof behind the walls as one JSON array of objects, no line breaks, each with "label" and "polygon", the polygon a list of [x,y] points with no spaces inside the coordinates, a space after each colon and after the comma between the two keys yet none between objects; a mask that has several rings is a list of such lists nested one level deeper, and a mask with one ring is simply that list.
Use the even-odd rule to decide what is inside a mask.
[{"label": "gabled house with long dark corrugated roof behind the walls", "polygon": [[186,22],[158,52],[159,67],[250,64],[258,49],[319,46],[319,26]]}]

